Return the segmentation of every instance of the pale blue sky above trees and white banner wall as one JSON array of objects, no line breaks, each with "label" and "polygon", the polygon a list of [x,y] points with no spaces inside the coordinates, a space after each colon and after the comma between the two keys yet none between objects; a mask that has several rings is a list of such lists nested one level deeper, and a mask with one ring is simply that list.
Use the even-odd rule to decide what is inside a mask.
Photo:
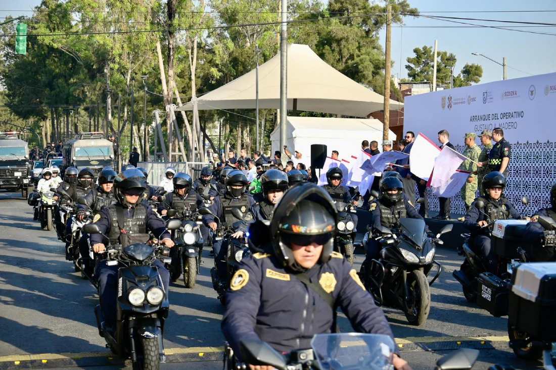
[{"label": "pale blue sky above trees and white banner wall", "polygon": [[[369,1],[371,3],[383,3],[380,0]],[[554,0],[534,0],[529,2],[517,0],[466,0],[465,2],[438,0],[408,1],[412,7],[419,9],[422,14],[429,16],[556,23],[556,1]],[[22,11],[29,11],[39,3],[40,0],[18,0],[17,2],[13,0],[0,0],[0,17],[6,17],[8,14],[11,16],[30,16],[31,12]],[[529,12],[523,12],[525,10]],[[512,12],[503,13],[499,11]],[[0,18],[0,21],[3,21],[3,18]],[[508,23],[461,22],[493,24],[504,27],[512,26],[512,24]],[[508,78],[556,72],[556,36],[492,28],[445,28],[445,26],[464,25],[416,17],[405,17],[405,27],[397,26],[392,29],[391,57],[394,62],[392,75],[399,78],[407,77],[405,69],[406,59],[414,55],[413,49],[415,47],[423,47],[424,45],[433,46],[435,39],[438,40],[439,50],[454,53],[458,59],[454,68],[454,74],[458,74],[465,63],[478,63],[483,67],[481,82],[492,82],[502,79],[502,66],[484,57],[471,55],[474,52],[484,54],[499,63],[502,63],[502,58],[506,57]],[[414,28],[410,26],[444,26],[444,28]],[[519,29],[556,34],[556,26]],[[380,40],[383,47],[385,45],[385,33],[384,29],[380,32]]]}]

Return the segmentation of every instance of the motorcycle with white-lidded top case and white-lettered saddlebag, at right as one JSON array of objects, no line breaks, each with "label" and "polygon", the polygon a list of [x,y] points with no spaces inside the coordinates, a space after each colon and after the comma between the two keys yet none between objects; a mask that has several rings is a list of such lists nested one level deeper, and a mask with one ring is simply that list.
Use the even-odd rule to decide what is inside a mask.
[{"label": "motorcycle with white-lidded top case and white-lettered saddlebag, at right", "polygon": [[[522,203],[527,206],[529,199],[523,197]],[[471,234],[461,234],[464,243],[461,246],[459,254],[465,256],[465,259],[460,269],[455,270],[452,275],[461,284],[463,295],[469,303],[477,302],[478,293],[483,289],[483,286],[490,286],[491,288],[496,286],[502,288],[504,286],[503,281],[509,279],[511,276],[512,266],[519,262],[528,262],[529,258],[526,252],[530,250],[529,241],[523,238],[525,226],[528,221],[524,219],[500,219],[491,221],[490,215],[484,211],[484,202],[479,199],[475,202],[475,205],[488,221],[484,229],[488,230],[490,234],[490,245],[494,248],[494,252],[498,256],[498,263],[496,267],[497,273],[488,272],[485,259],[471,249]],[[492,307],[483,306],[481,306],[481,308],[487,309],[497,317],[504,316],[504,312],[507,311],[507,301],[505,304],[506,309],[501,308],[504,304],[500,306],[499,304],[495,304],[495,302],[493,302]]]}]

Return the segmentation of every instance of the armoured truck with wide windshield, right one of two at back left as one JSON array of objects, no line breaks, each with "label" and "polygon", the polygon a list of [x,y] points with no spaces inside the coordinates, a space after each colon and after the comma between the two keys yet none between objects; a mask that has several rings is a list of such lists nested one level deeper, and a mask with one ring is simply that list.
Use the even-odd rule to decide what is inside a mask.
[{"label": "armoured truck with wide windshield, right one of two at back left", "polygon": [[90,168],[96,176],[104,167],[114,168],[112,142],[105,138],[103,132],[79,133],[64,144],[62,152],[62,172],[68,167]]}]

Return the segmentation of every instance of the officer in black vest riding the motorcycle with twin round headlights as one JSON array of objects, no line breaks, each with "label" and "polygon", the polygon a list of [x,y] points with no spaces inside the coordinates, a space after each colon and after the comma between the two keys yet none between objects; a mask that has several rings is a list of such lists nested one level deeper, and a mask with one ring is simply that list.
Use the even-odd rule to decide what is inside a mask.
[{"label": "officer in black vest riding the motorcycle with twin round headlights", "polygon": [[[101,234],[90,236],[93,252],[102,253],[106,250],[106,237],[110,244],[121,244],[122,247],[137,242],[146,243],[149,239],[148,231],[166,247],[174,246],[162,219],[156,216],[150,206],[140,201],[146,189],[147,179],[136,168],[127,169],[116,176],[114,192],[117,203],[101,209],[101,218],[96,222]],[[168,292],[170,273],[158,259],[152,264],[158,269],[164,290]],[[97,263],[95,276],[98,280],[102,313],[110,331],[116,323],[118,266],[108,266],[106,261],[101,261]]]}]

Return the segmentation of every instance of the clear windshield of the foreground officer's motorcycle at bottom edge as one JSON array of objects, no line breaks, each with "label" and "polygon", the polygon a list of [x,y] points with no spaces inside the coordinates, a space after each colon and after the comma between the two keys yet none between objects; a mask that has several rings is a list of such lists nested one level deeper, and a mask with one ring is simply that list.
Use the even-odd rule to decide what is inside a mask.
[{"label": "clear windshield of the foreground officer's motorcycle at bottom edge", "polygon": [[321,370],[390,369],[394,341],[382,334],[316,334],[311,347]]}]

